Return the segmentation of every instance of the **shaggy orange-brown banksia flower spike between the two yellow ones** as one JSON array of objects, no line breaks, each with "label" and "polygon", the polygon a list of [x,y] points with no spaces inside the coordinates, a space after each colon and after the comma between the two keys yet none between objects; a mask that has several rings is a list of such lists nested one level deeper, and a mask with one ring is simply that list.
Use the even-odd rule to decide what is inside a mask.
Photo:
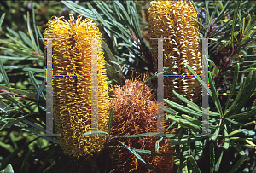
[{"label": "shaggy orange-brown banksia flower spike between the two yellow ones", "polygon": [[[116,86],[110,99],[110,107],[114,108],[112,136],[136,135],[157,132],[157,101],[150,101],[152,94],[144,81],[125,80],[125,85]],[[169,122],[165,122],[166,125]],[[120,138],[131,148],[155,152],[155,142],[158,137]],[[115,143],[113,145],[118,145]],[[172,147],[167,139],[160,141],[160,153],[172,153]],[[113,167],[124,172],[154,172],[148,170],[132,153],[121,147],[112,147]],[[151,156],[141,154],[143,159],[160,172],[172,172],[172,156]]]}]

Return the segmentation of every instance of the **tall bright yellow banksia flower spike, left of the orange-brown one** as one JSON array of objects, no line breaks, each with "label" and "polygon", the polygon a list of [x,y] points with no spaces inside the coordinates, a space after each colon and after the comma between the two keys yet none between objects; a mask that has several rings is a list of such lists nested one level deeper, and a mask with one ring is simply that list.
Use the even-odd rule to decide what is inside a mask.
[{"label": "tall bright yellow banksia flower spike, left of the orange-brown one", "polygon": [[[52,17],[44,39],[53,38],[53,95],[55,133],[64,153],[90,159],[105,147],[107,136],[84,136],[91,126],[91,51],[96,39],[98,130],[108,130],[108,83],[101,51],[101,32],[92,20]],[[46,45],[46,42],[44,42]],[[45,54],[46,55],[46,54]]]}]

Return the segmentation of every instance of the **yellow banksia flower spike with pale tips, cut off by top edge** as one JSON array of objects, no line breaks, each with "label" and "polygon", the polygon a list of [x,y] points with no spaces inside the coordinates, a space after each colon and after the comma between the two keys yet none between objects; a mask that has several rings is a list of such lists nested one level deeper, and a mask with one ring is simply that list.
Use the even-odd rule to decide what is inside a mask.
[{"label": "yellow banksia flower spike with pale tips, cut off by top edge", "polygon": [[[164,38],[164,66],[169,67],[176,61],[169,73],[173,76],[164,79],[164,95],[171,101],[177,101],[172,90],[189,100],[196,100],[201,94],[200,83],[187,76],[189,71],[184,66],[184,63],[188,64],[197,75],[201,75],[199,27],[192,17],[197,19],[197,13],[189,1],[152,1],[148,9],[149,37]],[[157,40],[151,39],[150,45],[157,70]]]}]

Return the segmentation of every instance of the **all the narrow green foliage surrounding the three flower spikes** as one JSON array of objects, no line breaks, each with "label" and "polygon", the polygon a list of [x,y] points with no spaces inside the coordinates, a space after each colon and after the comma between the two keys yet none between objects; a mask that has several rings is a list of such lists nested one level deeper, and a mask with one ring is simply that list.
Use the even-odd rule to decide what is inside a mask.
[{"label": "all the narrow green foliage surrounding the three flower spikes", "polygon": [[[5,4],[14,12],[18,10],[18,5],[26,7],[28,3]],[[118,146],[108,146],[129,150],[148,169],[155,172],[158,171],[140,153],[173,155],[173,172],[253,172],[256,170],[256,16],[253,12],[256,2],[213,0],[193,3],[199,12],[199,19],[194,20],[201,27],[201,38],[210,40],[209,57],[203,59],[209,62],[209,84],[205,84],[191,67],[185,66],[202,87],[208,90],[208,134],[201,134],[201,102],[189,101],[173,91],[183,104],[165,100],[172,108],[164,108],[164,111],[167,113],[166,119],[172,120],[169,128],[177,124],[176,134],[109,136],[113,120],[112,109],[108,133],[90,131],[84,135],[102,133],[108,135],[108,141],[158,136],[155,152],[131,148],[122,142]],[[105,157],[108,153],[98,154],[94,162],[99,165],[104,160],[102,158],[107,158],[104,160],[107,164],[102,164],[106,167],[97,170],[90,167],[90,162],[84,164],[83,160],[65,156],[55,136],[38,136],[45,134],[46,113],[44,47],[43,39],[40,39],[43,37],[44,26],[43,23],[36,26],[36,20],[41,19],[39,15],[42,9],[48,9],[49,13],[44,18],[49,20],[51,15],[62,10],[60,4],[98,23],[105,38],[102,49],[107,59],[109,84],[124,84],[123,76],[129,78],[131,70],[138,74],[150,74],[147,80],[149,84],[158,76],[154,72],[150,48],[141,33],[148,23],[138,13],[140,5],[144,6],[146,3],[31,3],[32,10],[22,15],[26,25],[23,25],[23,21],[22,24],[20,21],[17,24],[10,22],[9,11],[3,11],[0,18],[0,147],[4,151],[1,153],[3,158],[0,157],[1,172],[11,172],[13,167],[14,170],[17,169],[15,172],[74,172],[84,169],[88,172],[109,172],[112,169],[108,165],[108,157]],[[1,8],[3,9],[2,6]],[[44,25],[46,20],[43,20]],[[219,66],[216,62],[222,57],[217,57],[216,60],[215,55],[228,47],[230,51],[227,61],[224,66]],[[170,72],[174,65],[165,68],[165,73]],[[223,78],[224,83],[220,83],[219,78]],[[158,142],[163,138],[170,140],[175,153],[157,152]],[[34,165],[33,162],[38,164]]]}]

